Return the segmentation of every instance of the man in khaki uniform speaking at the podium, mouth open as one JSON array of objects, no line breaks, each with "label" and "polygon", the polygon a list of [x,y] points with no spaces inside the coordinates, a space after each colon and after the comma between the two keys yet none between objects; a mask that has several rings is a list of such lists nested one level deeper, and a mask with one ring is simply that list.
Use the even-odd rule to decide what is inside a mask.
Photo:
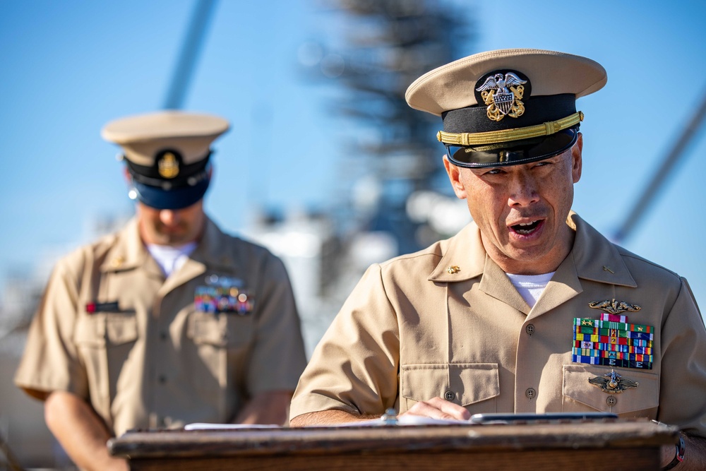
[{"label": "man in khaki uniform speaking at the podium, mouth open", "polygon": [[[292,426],[388,407],[440,419],[605,411],[677,425],[681,467],[704,469],[706,330],[686,280],[570,210],[575,100],[606,80],[590,59],[505,49],[409,86],[411,107],[443,119],[445,169],[474,222],[369,268],[299,381]],[[664,464],[675,455],[664,448]]]}]

